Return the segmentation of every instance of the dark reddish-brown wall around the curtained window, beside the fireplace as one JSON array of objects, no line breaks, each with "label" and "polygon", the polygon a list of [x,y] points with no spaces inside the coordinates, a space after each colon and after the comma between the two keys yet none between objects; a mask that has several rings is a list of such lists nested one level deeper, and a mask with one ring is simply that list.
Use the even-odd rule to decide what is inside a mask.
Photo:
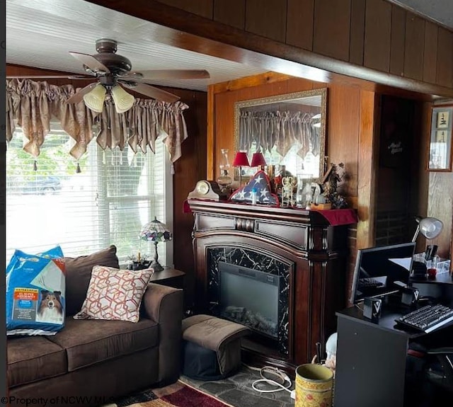
[{"label": "dark reddish-brown wall around the curtained window, beside the fireplace", "polygon": [[[14,65],[6,66],[6,75],[42,75],[62,74],[62,72],[45,71]],[[58,86],[71,84],[75,87],[83,87],[92,81],[48,79],[48,83]],[[192,251],[193,214],[183,212],[184,201],[188,193],[193,190],[197,180],[206,178],[206,115],[207,94],[200,91],[188,91],[186,89],[168,88],[159,86],[168,92],[180,96],[180,101],[189,108],[184,112],[184,118],[188,129],[188,139],[182,144],[183,156],[174,164],[173,175],[173,245],[175,268],[183,270],[185,277],[185,303],[193,303],[195,292],[195,277]],[[136,94],[137,97],[143,97]]]}]

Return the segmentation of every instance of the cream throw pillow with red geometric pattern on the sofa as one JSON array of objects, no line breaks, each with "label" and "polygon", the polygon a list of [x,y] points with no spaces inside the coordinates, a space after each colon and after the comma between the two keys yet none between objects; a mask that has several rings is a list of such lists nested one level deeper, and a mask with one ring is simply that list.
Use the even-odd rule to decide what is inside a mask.
[{"label": "cream throw pillow with red geometric pattern on the sofa", "polygon": [[137,322],[144,291],[154,270],[120,270],[95,265],[86,299],[74,319],[115,319]]}]

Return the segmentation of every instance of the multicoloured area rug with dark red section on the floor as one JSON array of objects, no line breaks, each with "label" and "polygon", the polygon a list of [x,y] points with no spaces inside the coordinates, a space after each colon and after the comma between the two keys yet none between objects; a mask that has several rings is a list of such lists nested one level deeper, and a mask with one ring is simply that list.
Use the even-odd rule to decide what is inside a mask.
[{"label": "multicoloured area rug with dark red section on the floor", "polygon": [[233,407],[188,384],[176,382],[161,389],[149,389],[103,407]]}]

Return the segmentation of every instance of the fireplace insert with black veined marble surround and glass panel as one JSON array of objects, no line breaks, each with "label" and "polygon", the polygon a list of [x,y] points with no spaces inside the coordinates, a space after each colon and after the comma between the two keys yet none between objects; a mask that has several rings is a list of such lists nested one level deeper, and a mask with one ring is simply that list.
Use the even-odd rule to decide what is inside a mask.
[{"label": "fireplace insert with black veined marble surround and glass panel", "polygon": [[292,265],[256,248],[225,245],[208,248],[207,258],[207,314],[248,326],[247,340],[288,355]]}]

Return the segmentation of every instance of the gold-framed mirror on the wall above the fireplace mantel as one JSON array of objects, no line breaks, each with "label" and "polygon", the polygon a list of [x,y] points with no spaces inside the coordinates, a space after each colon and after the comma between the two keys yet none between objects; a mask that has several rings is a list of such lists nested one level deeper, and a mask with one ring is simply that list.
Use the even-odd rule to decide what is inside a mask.
[{"label": "gold-framed mirror on the wall above the fireplace mantel", "polygon": [[[326,147],[327,88],[287,93],[268,98],[236,102],[234,129],[236,151],[263,153],[275,174],[285,169],[287,176],[311,178],[321,183]],[[258,168],[241,167],[247,179]],[[235,168],[239,179],[239,168]]]}]

